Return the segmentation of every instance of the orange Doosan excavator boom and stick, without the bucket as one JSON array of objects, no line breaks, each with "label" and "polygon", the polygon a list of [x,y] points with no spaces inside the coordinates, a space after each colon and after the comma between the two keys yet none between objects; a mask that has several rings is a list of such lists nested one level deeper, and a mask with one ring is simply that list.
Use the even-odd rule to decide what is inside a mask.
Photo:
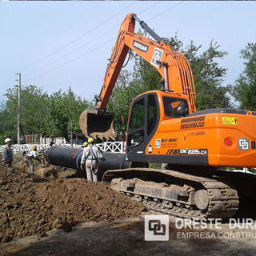
[{"label": "orange Doosan excavator boom and stick, without the bucket", "polygon": [[[155,40],[134,33],[135,21]],[[128,50],[133,50],[161,74],[166,90],[186,94],[190,98],[192,112],[195,111],[195,90],[190,65],[181,52],[174,52],[164,38],[154,33],[136,14],[128,14],[120,26],[110,62],[106,68],[104,83],[99,96],[96,96],[98,110],[106,110],[115,82],[122,69]]]}]

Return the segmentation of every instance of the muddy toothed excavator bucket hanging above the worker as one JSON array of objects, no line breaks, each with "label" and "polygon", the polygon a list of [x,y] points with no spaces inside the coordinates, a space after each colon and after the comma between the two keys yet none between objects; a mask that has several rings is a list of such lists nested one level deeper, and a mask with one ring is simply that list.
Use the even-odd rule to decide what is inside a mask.
[{"label": "muddy toothed excavator bucket hanging above the worker", "polygon": [[85,110],[80,115],[80,129],[87,138],[115,139],[113,114],[99,110]]}]

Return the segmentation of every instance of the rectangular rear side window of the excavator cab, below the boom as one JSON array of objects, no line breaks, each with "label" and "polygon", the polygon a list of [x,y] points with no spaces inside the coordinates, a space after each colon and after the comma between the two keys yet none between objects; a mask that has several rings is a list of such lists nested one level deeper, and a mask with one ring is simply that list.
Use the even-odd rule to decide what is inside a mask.
[{"label": "rectangular rear side window of the excavator cab, below the boom", "polygon": [[185,99],[162,97],[165,115],[168,118],[182,118],[189,114],[189,107]]}]

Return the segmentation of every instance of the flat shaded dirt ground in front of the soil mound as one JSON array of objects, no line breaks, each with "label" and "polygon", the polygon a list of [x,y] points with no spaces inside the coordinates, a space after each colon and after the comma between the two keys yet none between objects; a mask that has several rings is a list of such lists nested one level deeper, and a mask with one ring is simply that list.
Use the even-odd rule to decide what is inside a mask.
[{"label": "flat shaded dirt ground in front of the soil mound", "polygon": [[[51,230],[46,238],[30,237],[2,244],[1,255],[256,255],[254,239],[178,239],[180,230],[170,221],[170,239],[144,241],[142,218],[114,222],[90,222],[74,227],[70,233]],[[227,224],[222,224],[228,231]],[[197,230],[198,231],[198,230]],[[212,230],[217,231],[217,230]],[[235,231],[235,230],[234,230]],[[237,230],[242,231],[242,230]],[[246,231],[246,230],[244,230]],[[248,231],[248,230],[247,230]]]}]

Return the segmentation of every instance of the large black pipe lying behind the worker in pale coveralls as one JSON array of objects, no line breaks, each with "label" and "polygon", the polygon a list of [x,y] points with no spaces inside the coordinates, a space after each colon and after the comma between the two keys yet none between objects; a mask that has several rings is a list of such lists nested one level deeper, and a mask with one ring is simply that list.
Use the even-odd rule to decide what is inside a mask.
[{"label": "large black pipe lying behind the worker in pale coveralls", "polygon": [[[46,160],[54,166],[63,166],[72,169],[80,169],[81,149],[67,148],[63,146],[52,146],[46,150]],[[131,166],[131,162],[126,160],[125,154],[103,152],[102,157],[104,161],[98,160],[98,167],[100,171],[126,169]]]}]

